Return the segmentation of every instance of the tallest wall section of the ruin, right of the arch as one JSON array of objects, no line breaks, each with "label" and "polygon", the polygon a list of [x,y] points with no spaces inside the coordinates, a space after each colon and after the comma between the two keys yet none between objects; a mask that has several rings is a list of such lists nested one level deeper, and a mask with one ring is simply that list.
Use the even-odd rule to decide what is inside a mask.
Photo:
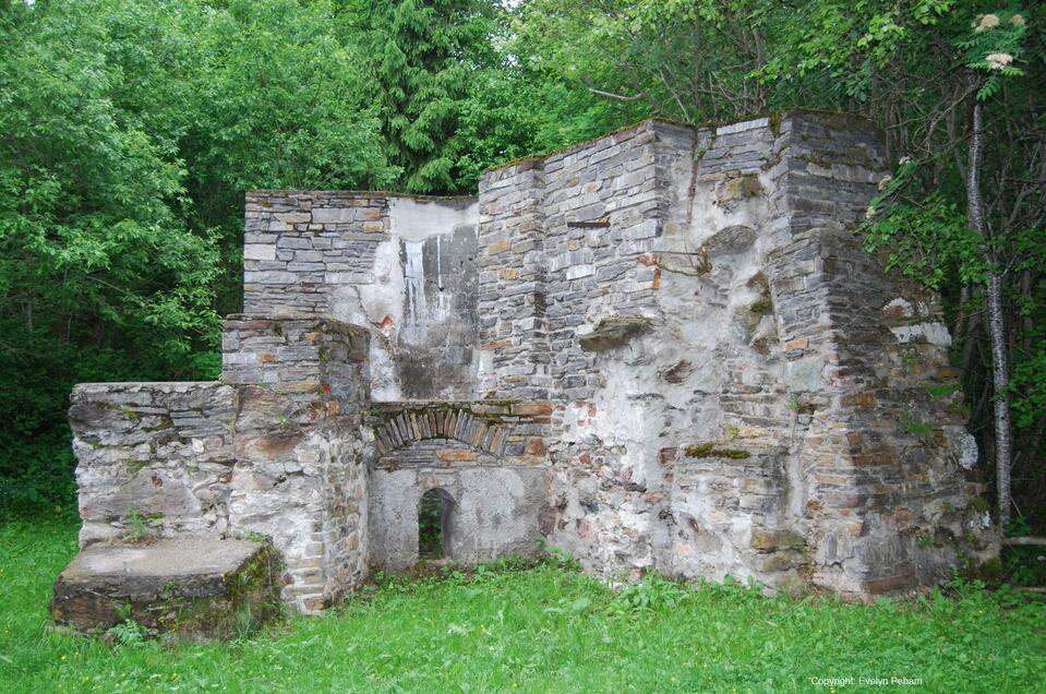
[{"label": "tallest wall section of the ruin, right of the arch", "polygon": [[484,177],[481,382],[556,404],[554,543],[850,595],[991,553],[936,298],[850,231],[887,170],[866,122],[793,112]]}]

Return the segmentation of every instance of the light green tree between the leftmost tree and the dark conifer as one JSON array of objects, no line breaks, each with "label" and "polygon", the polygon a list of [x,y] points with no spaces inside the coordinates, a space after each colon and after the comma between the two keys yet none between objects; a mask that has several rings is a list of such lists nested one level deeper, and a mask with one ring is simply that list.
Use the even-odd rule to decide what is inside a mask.
[{"label": "light green tree between the leftmost tree and the dark conifer", "polygon": [[[199,65],[179,141],[194,226],[219,227],[224,312],[239,311],[243,192],[382,189],[398,175],[382,143],[366,60],[325,2],[233,0],[180,11]],[[178,14],[176,14],[178,16]]]}]

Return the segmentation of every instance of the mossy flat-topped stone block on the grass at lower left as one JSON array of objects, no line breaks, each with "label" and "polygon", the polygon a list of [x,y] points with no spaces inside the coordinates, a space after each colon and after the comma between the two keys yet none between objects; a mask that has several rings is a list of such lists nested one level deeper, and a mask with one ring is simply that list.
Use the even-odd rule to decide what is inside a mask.
[{"label": "mossy flat-topped stone block on the grass at lower left", "polygon": [[130,615],[158,634],[226,638],[277,613],[278,600],[278,561],[264,542],[96,542],[55,582],[51,617],[82,632],[107,630]]}]

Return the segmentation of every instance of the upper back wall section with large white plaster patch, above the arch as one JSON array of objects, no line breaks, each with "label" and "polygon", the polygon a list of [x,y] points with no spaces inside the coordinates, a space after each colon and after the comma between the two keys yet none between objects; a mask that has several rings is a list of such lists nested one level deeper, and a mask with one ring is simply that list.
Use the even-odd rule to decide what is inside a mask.
[{"label": "upper back wall section with large white plaster patch, above the arch", "polygon": [[476,207],[474,198],[248,193],[243,311],[368,327],[375,400],[472,398]]}]

